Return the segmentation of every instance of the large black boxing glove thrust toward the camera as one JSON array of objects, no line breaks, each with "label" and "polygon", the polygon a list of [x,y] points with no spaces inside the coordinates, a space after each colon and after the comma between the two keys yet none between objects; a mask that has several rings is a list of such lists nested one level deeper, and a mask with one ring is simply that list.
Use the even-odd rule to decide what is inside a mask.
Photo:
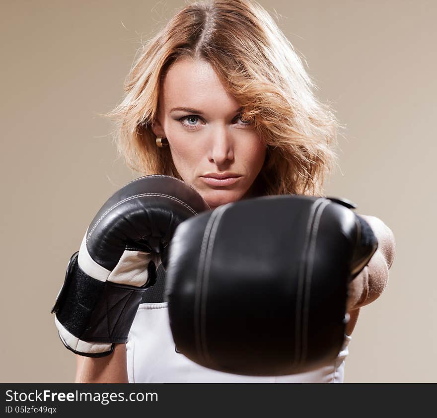
[{"label": "large black boxing glove thrust toward the camera", "polygon": [[346,202],[268,196],[178,226],[165,297],[178,351],[215,370],[306,372],[334,360],[348,284],[377,240]]}]

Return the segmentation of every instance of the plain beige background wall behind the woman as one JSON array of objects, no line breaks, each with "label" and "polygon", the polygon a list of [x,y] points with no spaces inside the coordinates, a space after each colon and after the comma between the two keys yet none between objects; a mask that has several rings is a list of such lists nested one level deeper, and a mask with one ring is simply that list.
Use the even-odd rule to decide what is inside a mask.
[{"label": "plain beige background wall behind the woman", "polygon": [[[327,193],[392,228],[347,382],[437,381],[436,1],[260,1],[347,126]],[[183,1],[1,1],[2,382],[69,382],[50,309],[95,212],[133,178],[109,121],[140,36]]]}]

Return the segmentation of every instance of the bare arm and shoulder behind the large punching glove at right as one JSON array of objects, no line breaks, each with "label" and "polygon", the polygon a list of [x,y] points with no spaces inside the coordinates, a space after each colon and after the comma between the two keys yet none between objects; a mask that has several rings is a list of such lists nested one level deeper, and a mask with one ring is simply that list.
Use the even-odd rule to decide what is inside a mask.
[{"label": "bare arm and shoulder behind the large punching glove at right", "polygon": [[391,229],[375,216],[362,216],[378,240],[378,249],[363,271],[351,281],[347,310],[354,311],[377,299],[388,282],[388,270],[393,264],[395,239]]}]

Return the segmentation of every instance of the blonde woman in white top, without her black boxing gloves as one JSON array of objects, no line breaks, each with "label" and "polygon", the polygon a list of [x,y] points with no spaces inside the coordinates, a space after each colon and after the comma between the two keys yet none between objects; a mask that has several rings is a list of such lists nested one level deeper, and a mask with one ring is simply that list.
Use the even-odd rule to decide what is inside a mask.
[{"label": "blonde woman in white top, without her black boxing gloves", "polygon": [[[140,50],[118,121],[119,150],[142,174],[192,185],[212,209],[262,195],[321,196],[336,161],[338,122],[313,94],[290,42],[249,0],[186,6]],[[247,377],[212,371],[177,353],[166,304],[140,305],[127,347],[77,358],[77,382],[342,382],[360,308],[384,290],[394,237],[365,216],[379,248],[352,281],[345,344],[333,364],[310,373]],[[153,303],[150,303],[153,302]],[[158,314],[159,312],[159,314]]]}]

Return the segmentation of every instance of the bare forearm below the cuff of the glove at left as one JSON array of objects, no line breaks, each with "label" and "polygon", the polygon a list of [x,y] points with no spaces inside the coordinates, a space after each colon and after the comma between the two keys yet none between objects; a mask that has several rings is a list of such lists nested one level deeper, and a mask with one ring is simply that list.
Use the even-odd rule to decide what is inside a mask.
[{"label": "bare forearm below the cuff of the glove at left", "polygon": [[76,355],[75,383],[129,383],[126,362],[126,344],[116,344],[105,357]]}]

